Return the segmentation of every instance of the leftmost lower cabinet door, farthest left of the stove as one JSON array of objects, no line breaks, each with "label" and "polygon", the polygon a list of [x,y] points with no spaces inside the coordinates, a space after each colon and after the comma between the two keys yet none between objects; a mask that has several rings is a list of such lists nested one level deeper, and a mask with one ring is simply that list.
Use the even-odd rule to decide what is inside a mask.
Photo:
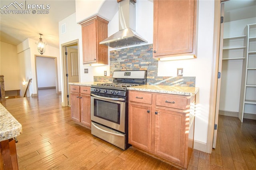
[{"label": "leftmost lower cabinet door, farthest left of the stove", "polygon": [[71,119],[80,122],[80,100],[78,93],[70,93],[71,99]]}]

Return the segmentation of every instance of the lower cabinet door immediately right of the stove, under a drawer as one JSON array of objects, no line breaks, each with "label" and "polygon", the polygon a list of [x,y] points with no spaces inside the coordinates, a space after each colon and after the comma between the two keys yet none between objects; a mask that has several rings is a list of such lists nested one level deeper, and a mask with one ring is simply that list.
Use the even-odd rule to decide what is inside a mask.
[{"label": "lower cabinet door immediately right of the stove, under a drawer", "polygon": [[129,104],[128,143],[150,152],[151,107]]}]

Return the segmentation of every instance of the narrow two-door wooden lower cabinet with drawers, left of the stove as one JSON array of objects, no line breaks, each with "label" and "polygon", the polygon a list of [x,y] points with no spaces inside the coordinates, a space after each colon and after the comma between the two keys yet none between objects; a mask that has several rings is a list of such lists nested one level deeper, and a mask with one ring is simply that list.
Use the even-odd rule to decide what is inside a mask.
[{"label": "narrow two-door wooden lower cabinet with drawers, left of the stove", "polygon": [[91,127],[91,96],[88,86],[70,86],[71,119]]}]

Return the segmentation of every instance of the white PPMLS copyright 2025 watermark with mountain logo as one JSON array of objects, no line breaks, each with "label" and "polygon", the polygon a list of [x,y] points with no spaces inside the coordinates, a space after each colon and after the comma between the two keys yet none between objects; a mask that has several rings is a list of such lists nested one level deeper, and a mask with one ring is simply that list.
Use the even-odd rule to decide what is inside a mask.
[{"label": "white PPMLS copyright 2025 watermark with mountain logo", "polygon": [[26,4],[26,1],[11,2],[0,8],[1,14],[30,14],[30,12],[32,14],[49,14],[49,9],[50,4]]}]

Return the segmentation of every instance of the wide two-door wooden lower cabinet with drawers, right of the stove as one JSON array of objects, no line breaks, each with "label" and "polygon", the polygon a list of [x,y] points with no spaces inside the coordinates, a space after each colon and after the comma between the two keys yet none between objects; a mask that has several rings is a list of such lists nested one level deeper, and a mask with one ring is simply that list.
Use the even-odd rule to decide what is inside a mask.
[{"label": "wide two-door wooden lower cabinet with drawers, right of the stove", "polygon": [[186,169],[194,144],[194,102],[194,96],[129,91],[128,142]]}]

